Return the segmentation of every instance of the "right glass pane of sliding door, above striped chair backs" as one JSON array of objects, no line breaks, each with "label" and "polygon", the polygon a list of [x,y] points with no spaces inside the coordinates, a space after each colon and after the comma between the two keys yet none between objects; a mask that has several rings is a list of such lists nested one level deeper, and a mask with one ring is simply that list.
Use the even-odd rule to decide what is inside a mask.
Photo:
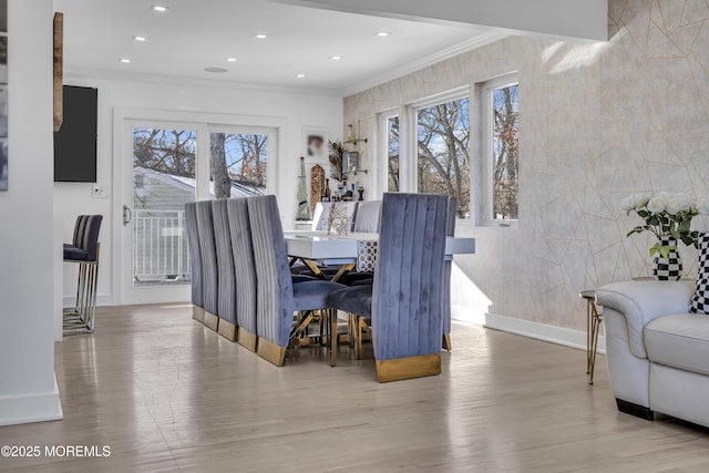
[{"label": "right glass pane of sliding door, above striped chair backs", "polygon": [[210,133],[212,185],[215,198],[266,194],[268,135]]}]

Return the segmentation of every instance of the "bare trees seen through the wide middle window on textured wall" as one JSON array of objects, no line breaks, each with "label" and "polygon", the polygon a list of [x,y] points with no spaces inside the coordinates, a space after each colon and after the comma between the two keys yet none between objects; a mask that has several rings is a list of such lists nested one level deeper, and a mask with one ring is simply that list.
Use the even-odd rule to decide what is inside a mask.
[{"label": "bare trees seen through the wide middle window on textured wall", "polygon": [[418,112],[420,193],[458,199],[458,216],[470,216],[470,100],[459,99]]}]

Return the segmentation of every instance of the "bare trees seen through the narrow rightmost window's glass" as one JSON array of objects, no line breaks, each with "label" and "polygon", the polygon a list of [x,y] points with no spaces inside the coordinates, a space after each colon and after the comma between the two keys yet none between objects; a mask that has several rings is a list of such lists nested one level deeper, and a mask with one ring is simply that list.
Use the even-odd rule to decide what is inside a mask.
[{"label": "bare trees seen through the narrow rightmost window's glass", "polygon": [[492,90],[492,212],[494,219],[518,218],[520,85]]}]

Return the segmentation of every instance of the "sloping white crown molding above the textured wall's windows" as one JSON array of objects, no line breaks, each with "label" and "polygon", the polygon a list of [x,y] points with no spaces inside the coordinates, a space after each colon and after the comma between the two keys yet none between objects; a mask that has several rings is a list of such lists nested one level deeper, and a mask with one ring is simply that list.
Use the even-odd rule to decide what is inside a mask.
[{"label": "sloping white crown molding above the textured wall's windows", "polygon": [[399,68],[393,68],[391,71],[387,71],[382,74],[373,75],[363,81],[354,82],[353,84],[341,89],[340,93],[342,97],[354,95],[357,93],[363,92],[377,85],[381,85],[387,82],[401,79],[404,75],[420,71],[422,69],[436,64],[441,61],[445,61],[446,59],[455,58],[456,55],[466,53],[474,49],[482,48],[490,43],[494,43],[495,41],[499,41],[503,38],[507,38],[508,35],[510,33],[502,32],[502,31],[490,31],[487,33],[479,34],[475,38],[472,38],[467,41],[463,41],[461,43],[454,44],[450,48],[446,48],[433,54],[423,56],[413,62],[409,62],[408,64],[401,65]]}]

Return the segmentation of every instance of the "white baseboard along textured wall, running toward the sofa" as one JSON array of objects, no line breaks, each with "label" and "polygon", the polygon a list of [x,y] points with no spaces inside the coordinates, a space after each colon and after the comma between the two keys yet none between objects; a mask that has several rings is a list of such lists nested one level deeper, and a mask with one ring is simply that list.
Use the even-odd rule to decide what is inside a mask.
[{"label": "white baseboard along textured wall, running toward the sofa", "polygon": [[[523,337],[534,338],[537,340],[544,340],[551,343],[563,345],[565,347],[576,348],[579,350],[586,349],[585,331],[565,329],[546,323],[501,316],[499,313],[486,312],[483,315],[474,315],[470,313],[470,309],[462,306],[454,306],[452,308],[452,316],[454,320],[463,322],[521,335]],[[586,316],[584,312],[580,312],[578,317]],[[606,338],[604,336],[598,337],[598,353],[606,353]]]}]

